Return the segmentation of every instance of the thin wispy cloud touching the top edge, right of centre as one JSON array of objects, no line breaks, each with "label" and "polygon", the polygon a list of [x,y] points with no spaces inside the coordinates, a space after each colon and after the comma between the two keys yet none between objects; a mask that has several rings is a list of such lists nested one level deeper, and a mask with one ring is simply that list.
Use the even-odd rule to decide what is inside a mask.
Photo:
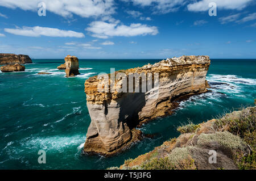
[{"label": "thin wispy cloud touching the top edge, right of centre", "polygon": [[[129,2],[129,0],[122,0]],[[152,6],[155,13],[168,13],[177,11],[186,3],[186,0],[131,0],[134,5]]]}]

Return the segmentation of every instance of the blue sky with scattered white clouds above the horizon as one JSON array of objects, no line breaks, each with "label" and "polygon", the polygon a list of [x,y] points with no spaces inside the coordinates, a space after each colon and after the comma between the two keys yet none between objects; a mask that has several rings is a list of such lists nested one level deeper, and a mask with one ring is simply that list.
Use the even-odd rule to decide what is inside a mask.
[{"label": "blue sky with scattered white clouds above the horizon", "polygon": [[[38,15],[38,4],[46,16]],[[209,16],[210,2],[217,16]],[[32,58],[256,58],[255,0],[0,0],[0,52]]]}]

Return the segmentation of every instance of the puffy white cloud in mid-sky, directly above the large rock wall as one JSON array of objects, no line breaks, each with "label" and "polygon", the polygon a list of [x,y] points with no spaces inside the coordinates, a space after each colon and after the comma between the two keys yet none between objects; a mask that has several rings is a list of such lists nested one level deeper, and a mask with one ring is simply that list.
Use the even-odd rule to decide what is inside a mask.
[{"label": "puffy white cloud in mid-sky, directly above the large rock wall", "polygon": [[92,22],[86,31],[92,32],[92,36],[106,39],[109,36],[138,36],[138,35],[156,35],[158,28],[155,26],[147,26],[141,23],[132,23],[130,26],[117,23]]}]

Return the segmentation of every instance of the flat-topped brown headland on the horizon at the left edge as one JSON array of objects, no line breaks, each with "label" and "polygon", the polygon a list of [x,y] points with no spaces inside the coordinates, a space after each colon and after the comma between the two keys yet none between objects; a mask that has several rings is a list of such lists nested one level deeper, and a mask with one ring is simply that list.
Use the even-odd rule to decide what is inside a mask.
[{"label": "flat-topped brown headland on the horizon at the left edge", "polygon": [[11,65],[11,64],[30,64],[32,60],[29,56],[24,54],[11,54],[11,53],[0,53],[0,64]]}]

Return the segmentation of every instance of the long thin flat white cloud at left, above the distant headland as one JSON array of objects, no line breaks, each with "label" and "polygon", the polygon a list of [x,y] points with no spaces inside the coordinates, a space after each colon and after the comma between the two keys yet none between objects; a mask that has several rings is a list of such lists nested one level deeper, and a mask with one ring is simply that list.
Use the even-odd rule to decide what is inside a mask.
[{"label": "long thin flat white cloud at left, above the distant headland", "polygon": [[5,28],[5,32],[12,33],[14,35],[21,36],[51,36],[51,37],[84,37],[83,33],[70,31],[70,30],[59,30],[57,28],[47,27],[22,27],[22,28]]}]

